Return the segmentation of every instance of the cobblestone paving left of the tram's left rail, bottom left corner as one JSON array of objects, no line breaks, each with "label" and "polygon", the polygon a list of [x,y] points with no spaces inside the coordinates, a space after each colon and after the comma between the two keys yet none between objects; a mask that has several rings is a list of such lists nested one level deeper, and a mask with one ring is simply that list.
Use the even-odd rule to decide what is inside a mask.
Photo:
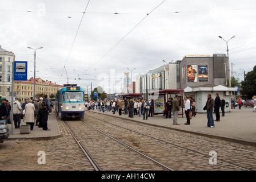
[{"label": "cobblestone paving left of the tram's left rail, bottom left corner", "polygon": [[[62,136],[51,140],[6,140],[0,144],[0,170],[94,170],[85,154],[66,129],[58,121]],[[38,164],[39,151],[45,152],[45,164]],[[41,160],[42,162],[42,160]]]}]

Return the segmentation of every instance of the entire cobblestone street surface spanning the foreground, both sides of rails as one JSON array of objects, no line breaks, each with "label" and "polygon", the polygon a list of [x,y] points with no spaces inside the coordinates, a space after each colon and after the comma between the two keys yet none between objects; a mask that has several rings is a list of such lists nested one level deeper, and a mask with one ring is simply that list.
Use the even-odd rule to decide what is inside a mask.
[{"label": "entire cobblestone street surface spanning the foreground, both sides of rails", "polygon": [[[133,131],[110,126],[109,123],[100,122],[90,116]],[[253,146],[143,125],[97,113],[87,113],[84,121],[99,127],[111,136],[174,170],[242,170],[236,166],[250,170],[256,169],[256,147]],[[58,124],[62,131],[62,136],[59,138],[50,140],[6,140],[1,143],[0,170],[94,170],[77,143],[75,143],[65,123],[58,121]],[[81,126],[79,124],[75,128],[79,129]],[[146,160],[136,158],[136,154],[129,163],[131,166],[133,164],[138,165],[133,168],[129,166],[123,168],[124,164],[118,161],[122,158],[125,159],[125,156],[110,155],[111,149],[114,147],[116,150],[120,150],[119,146],[109,144],[107,140],[102,140],[105,145],[99,147],[99,139],[102,139],[99,134],[91,134],[89,129],[77,132],[84,136],[82,140],[89,144],[91,152],[99,151],[98,153],[94,152],[94,157],[101,159],[103,169],[162,170],[154,167]],[[39,151],[46,154],[45,165],[38,164]],[[123,154],[130,155],[125,149],[122,149],[122,151]],[[217,164],[209,164],[210,151],[216,152]],[[231,163],[233,166],[227,163]]]}]

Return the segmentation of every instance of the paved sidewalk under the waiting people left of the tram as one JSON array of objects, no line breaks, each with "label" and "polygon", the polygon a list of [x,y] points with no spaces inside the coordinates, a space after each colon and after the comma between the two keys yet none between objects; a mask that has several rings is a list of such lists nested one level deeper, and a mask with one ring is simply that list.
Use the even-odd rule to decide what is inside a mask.
[{"label": "paved sidewalk under the waiting people left of the tram", "polygon": [[[21,119],[21,125],[26,124],[23,122],[23,119]],[[49,131],[45,131],[42,129],[42,127],[34,126],[34,129],[30,131],[30,134],[20,134],[19,129],[15,129],[13,125],[13,135],[11,134],[11,124],[8,124],[8,127],[10,129],[10,137],[8,139],[15,140],[15,139],[53,139],[57,138],[61,135],[61,130],[59,130],[59,125],[57,122],[57,118],[55,116],[55,113],[50,113],[48,115],[48,129]],[[30,129],[30,126],[29,126]]]}]

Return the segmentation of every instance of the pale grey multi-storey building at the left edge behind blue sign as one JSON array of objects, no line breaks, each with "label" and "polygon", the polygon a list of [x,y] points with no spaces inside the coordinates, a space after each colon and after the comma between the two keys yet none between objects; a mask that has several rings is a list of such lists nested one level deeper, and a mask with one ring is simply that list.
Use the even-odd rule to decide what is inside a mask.
[{"label": "pale grey multi-storey building at the left edge behind blue sign", "polygon": [[0,46],[0,96],[10,99],[13,62],[15,55]]}]

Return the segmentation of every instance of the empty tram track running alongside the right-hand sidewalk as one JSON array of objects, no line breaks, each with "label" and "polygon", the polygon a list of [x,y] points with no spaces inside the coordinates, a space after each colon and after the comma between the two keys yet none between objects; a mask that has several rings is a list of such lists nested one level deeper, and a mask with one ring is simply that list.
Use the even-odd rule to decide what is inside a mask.
[{"label": "empty tram track running alongside the right-hand sidewalk", "polygon": [[[183,151],[186,151],[186,152],[191,152],[191,153],[193,153],[193,154],[196,154],[196,155],[200,155],[200,156],[202,156],[203,158],[207,158],[207,159],[210,159],[210,156],[209,155],[205,155],[205,153],[203,153],[203,152],[201,152],[201,151],[203,151],[203,150],[206,150],[206,149],[203,149],[203,150],[200,150],[200,152],[195,148],[195,149],[191,149],[191,146],[187,146],[187,147],[183,147],[180,143],[178,143],[178,144],[176,144],[176,143],[174,143],[174,142],[170,142],[170,141],[168,141],[168,140],[166,140],[166,139],[159,139],[159,138],[157,138],[157,137],[152,137],[151,135],[149,135],[149,134],[146,134],[146,133],[141,133],[141,132],[138,132],[138,131],[134,131],[134,130],[131,130],[131,129],[127,129],[127,127],[122,127],[122,126],[120,126],[120,124],[119,125],[115,125],[115,124],[113,124],[113,123],[110,123],[110,122],[107,122],[106,121],[106,115],[104,115],[104,120],[103,119],[99,119],[99,118],[95,118],[95,117],[92,117],[91,115],[89,115],[89,114],[87,114],[87,117],[90,117],[90,118],[93,118],[93,119],[96,119],[97,121],[100,121],[100,122],[105,122],[105,123],[107,123],[108,125],[113,125],[113,126],[115,126],[115,127],[119,127],[119,128],[121,128],[121,129],[123,129],[123,130],[127,130],[127,131],[129,131],[129,132],[131,132],[131,133],[133,133],[133,134],[137,134],[137,135],[143,135],[143,136],[145,136],[145,137],[147,137],[147,138],[151,138],[151,139],[153,139],[153,140],[157,140],[158,142],[162,142],[162,143],[165,143],[165,144],[169,144],[169,145],[171,145],[171,146],[175,146],[175,147],[177,147],[177,148],[179,148],[179,149],[181,149],[181,150],[183,150]],[[108,117],[110,117],[112,120],[116,120],[117,118],[113,118],[113,117],[111,117],[111,116],[108,116]],[[121,119],[118,119],[118,122],[120,122],[121,121]],[[123,121],[123,119],[122,119],[122,122],[126,122],[126,121]],[[129,123],[129,125],[130,125],[130,123]],[[137,127],[138,127],[138,130],[142,130],[142,128],[141,128],[141,126],[139,126],[139,125],[141,125],[141,124],[138,124],[137,125]],[[150,132],[151,131],[151,132]],[[152,133],[152,130],[150,130],[149,131],[149,133]],[[162,130],[161,130],[162,131]],[[178,134],[175,134],[175,135],[178,135]],[[215,143],[215,142],[210,142],[210,141],[207,141],[207,140],[203,140],[203,139],[198,139],[198,138],[193,138],[193,137],[187,137],[187,136],[185,136],[185,135],[182,135],[182,134],[179,134],[179,137],[183,137],[183,138],[189,138],[190,140],[194,140],[194,139],[197,139],[197,140],[201,140],[202,142],[208,142],[209,144],[208,144],[208,146],[210,145],[221,145],[222,147],[230,147],[230,148],[232,148],[232,150],[235,150],[235,151],[237,151],[237,150],[239,150],[239,151],[242,151],[242,152],[247,152],[246,153],[246,156],[249,156],[250,154],[253,154],[253,155],[255,155],[255,152],[254,151],[250,151],[250,150],[244,150],[243,148],[238,148],[238,147],[233,147],[233,146],[227,146],[227,145],[225,145],[225,144],[219,144],[219,143]],[[175,137],[174,137],[175,138]],[[204,147],[204,148],[209,148],[208,146],[207,147],[205,147],[205,143],[203,143],[202,144],[202,146]],[[208,152],[209,152],[209,149],[207,149],[208,150]],[[226,148],[225,148],[225,150],[227,150]],[[230,150],[230,149],[229,149]],[[219,151],[219,153],[222,153],[221,151]],[[233,155],[233,154],[231,154],[231,155]],[[254,161],[255,161],[255,157],[253,156],[253,157],[251,157],[251,160],[253,160],[254,159]],[[232,166],[232,167],[234,167],[234,168],[237,168],[237,169],[240,169],[240,170],[246,170],[246,171],[250,171],[251,169],[255,169],[255,168],[253,168],[253,167],[251,167],[249,164],[246,164],[245,162],[241,162],[241,159],[236,159],[236,160],[234,160],[234,161],[237,161],[236,163],[235,162],[233,162],[233,159],[232,160],[230,160],[228,157],[223,157],[223,158],[221,158],[221,159],[218,159],[218,164],[220,164],[220,163],[223,163],[223,164],[225,164],[225,166]],[[241,163],[241,164],[239,164],[239,163]],[[226,167],[224,167],[224,169],[227,169]],[[232,168],[231,168],[232,169]]]}]

